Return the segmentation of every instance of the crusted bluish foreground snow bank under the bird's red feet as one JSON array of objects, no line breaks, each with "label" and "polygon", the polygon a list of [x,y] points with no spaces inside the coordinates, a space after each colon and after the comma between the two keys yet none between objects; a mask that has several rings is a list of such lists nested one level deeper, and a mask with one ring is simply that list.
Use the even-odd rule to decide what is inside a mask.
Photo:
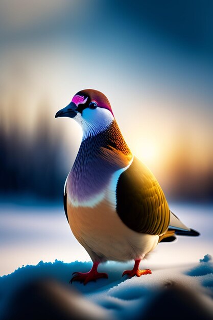
[{"label": "crusted bluish foreground snow bank under the bird's red feet", "polygon": [[[139,310],[141,313],[141,308],[146,310],[157,292],[177,283],[185,289],[190,288],[194,292],[201,293],[203,298],[207,299],[206,306],[210,305],[213,308],[213,302],[210,300],[213,294],[213,263],[210,255],[200,260],[196,265],[189,266],[170,268],[153,266],[152,275],[131,279],[121,277],[123,270],[130,267],[129,263],[109,262],[99,269],[106,271],[109,279],[100,279],[86,286],[74,282],[69,288],[81,291],[87,300],[109,311],[111,317],[115,319],[125,320],[130,317],[134,319],[134,315]],[[4,306],[12,291],[32,280],[53,278],[60,283],[67,284],[72,272],[88,271],[90,267],[90,262],[64,263],[56,260],[54,263],[40,261],[36,266],[27,265],[18,268],[10,275],[0,278],[0,297],[2,299],[0,302],[2,301],[2,306]]]}]

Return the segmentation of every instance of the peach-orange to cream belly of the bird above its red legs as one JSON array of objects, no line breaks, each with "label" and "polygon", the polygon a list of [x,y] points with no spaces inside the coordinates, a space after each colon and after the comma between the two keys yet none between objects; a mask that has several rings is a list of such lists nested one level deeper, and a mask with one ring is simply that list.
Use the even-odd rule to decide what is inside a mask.
[{"label": "peach-orange to cream belly of the bird above its red legs", "polygon": [[67,209],[70,228],[92,260],[143,259],[158,243],[158,236],[128,228],[106,199],[94,208],[68,203]]}]

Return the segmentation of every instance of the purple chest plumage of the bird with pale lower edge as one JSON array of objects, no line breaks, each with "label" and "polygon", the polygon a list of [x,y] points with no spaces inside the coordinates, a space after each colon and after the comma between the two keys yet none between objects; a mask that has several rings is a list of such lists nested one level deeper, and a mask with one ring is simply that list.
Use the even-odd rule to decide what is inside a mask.
[{"label": "purple chest plumage of the bird with pale lower edge", "polygon": [[[93,152],[93,153],[92,153]],[[77,155],[67,177],[67,200],[74,207],[94,207],[108,196],[115,196],[117,180],[132,162],[132,155],[87,146]],[[115,201],[115,199],[114,199]]]}]

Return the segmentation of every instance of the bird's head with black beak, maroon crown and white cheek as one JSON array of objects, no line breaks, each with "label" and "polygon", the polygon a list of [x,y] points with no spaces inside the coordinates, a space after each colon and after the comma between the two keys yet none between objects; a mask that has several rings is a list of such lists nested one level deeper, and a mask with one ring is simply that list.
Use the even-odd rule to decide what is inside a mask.
[{"label": "bird's head with black beak, maroon crown and white cheek", "polygon": [[82,126],[84,138],[104,131],[114,120],[107,97],[93,89],[79,91],[65,108],[56,113],[55,118],[58,117],[74,118]]}]

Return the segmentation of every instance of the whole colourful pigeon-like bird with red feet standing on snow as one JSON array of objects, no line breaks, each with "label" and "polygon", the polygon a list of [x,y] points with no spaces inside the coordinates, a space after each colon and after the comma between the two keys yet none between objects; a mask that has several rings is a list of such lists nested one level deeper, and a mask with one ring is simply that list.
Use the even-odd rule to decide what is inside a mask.
[{"label": "whole colourful pigeon-like bird with red feet standing on snow", "polygon": [[70,229],[93,262],[90,271],[74,272],[70,283],[108,278],[98,266],[109,260],[134,260],[133,269],[122,276],[151,274],[139,264],[159,242],[199,235],[169,209],[154,174],[125,142],[103,93],[79,91],[56,113],[59,117],[76,120],[83,132],[65,181],[63,203]]}]

